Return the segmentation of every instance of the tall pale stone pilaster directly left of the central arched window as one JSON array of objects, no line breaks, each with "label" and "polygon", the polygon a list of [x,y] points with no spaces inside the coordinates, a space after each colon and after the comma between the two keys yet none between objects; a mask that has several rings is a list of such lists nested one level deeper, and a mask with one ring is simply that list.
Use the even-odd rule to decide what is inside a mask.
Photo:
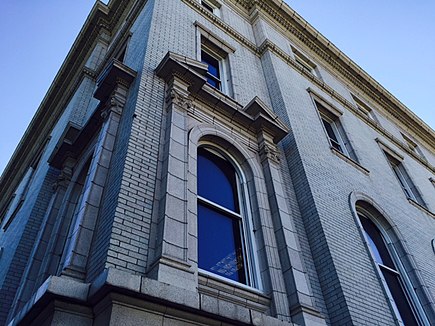
[{"label": "tall pale stone pilaster directly left of the central arched window", "polygon": [[192,106],[188,87],[188,83],[176,76],[168,82],[159,209],[154,219],[155,248],[149,275],[194,291],[196,269],[188,259],[186,110]]}]

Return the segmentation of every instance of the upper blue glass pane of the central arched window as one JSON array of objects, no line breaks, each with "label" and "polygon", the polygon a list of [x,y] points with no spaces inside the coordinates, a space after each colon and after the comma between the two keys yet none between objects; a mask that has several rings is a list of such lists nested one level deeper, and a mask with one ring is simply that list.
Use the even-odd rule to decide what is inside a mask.
[{"label": "upper blue glass pane of the central arched window", "polygon": [[198,148],[198,195],[239,213],[236,180],[229,162]]}]

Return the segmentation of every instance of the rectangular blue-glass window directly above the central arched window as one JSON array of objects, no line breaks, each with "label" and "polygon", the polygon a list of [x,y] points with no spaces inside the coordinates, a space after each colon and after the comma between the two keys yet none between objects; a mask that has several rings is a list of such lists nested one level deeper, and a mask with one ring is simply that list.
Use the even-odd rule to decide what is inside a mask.
[{"label": "rectangular blue-glass window directly above the central arched window", "polygon": [[230,95],[228,53],[205,37],[201,37],[200,60],[208,66],[207,83]]}]

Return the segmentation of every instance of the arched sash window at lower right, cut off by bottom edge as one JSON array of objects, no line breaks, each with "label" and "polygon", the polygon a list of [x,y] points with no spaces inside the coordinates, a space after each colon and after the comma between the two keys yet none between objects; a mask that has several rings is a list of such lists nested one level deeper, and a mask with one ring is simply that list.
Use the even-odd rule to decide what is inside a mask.
[{"label": "arched sash window at lower right, cut off by bottom edge", "polygon": [[394,251],[389,250],[386,237],[365,214],[358,213],[358,217],[399,324],[429,325],[424,313],[417,308],[415,293],[411,293],[412,286],[399,268],[399,258]]}]

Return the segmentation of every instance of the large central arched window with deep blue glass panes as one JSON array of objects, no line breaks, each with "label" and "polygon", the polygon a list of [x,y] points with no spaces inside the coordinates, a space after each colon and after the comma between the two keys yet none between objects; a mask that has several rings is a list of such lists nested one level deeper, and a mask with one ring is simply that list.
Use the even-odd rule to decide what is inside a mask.
[{"label": "large central arched window with deep blue glass panes", "polygon": [[198,148],[198,267],[256,286],[247,250],[241,175],[219,151]]}]

